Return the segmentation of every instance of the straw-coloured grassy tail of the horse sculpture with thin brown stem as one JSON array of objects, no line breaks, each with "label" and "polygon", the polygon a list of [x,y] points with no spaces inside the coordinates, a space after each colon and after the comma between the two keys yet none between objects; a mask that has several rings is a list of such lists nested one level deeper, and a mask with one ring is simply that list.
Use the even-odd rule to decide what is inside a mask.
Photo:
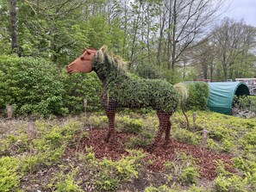
[{"label": "straw-coloured grassy tail of the horse sculpture with thin brown stem", "polygon": [[180,96],[180,107],[181,107],[182,113],[184,114],[184,117],[187,121],[187,128],[189,129],[190,128],[190,121],[189,121],[188,116],[186,115],[186,113],[184,111],[184,103],[187,101],[187,99],[189,97],[189,91],[187,90],[185,85],[182,84],[182,83],[174,84],[173,86],[176,90],[178,90],[178,93],[179,93],[179,96]]}]

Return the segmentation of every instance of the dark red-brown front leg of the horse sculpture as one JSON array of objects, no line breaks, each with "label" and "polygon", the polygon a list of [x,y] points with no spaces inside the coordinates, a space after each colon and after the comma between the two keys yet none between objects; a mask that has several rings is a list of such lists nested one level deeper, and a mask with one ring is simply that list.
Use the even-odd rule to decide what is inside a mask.
[{"label": "dark red-brown front leg of the horse sculpture", "polygon": [[109,119],[109,132],[107,134],[107,137],[105,138],[106,142],[113,143],[116,135],[116,129],[115,129],[115,115],[116,111],[115,108],[106,108],[105,113]]}]

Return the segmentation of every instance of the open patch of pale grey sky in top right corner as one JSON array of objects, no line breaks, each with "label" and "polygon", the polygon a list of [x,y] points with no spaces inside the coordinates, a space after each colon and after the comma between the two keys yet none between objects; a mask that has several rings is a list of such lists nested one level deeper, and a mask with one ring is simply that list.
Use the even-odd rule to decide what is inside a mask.
[{"label": "open patch of pale grey sky in top right corner", "polygon": [[256,27],[256,0],[227,0],[230,4],[223,16],[240,21],[242,18],[248,25]]}]

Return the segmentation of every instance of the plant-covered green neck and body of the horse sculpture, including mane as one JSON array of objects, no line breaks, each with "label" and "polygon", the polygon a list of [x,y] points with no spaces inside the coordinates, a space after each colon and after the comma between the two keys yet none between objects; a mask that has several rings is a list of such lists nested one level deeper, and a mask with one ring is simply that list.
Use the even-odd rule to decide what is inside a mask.
[{"label": "plant-covered green neck and body of the horse sculpture, including mane", "polygon": [[106,53],[105,47],[96,53],[92,65],[103,82],[104,93],[122,107],[153,107],[170,114],[178,107],[178,91],[172,84],[159,79],[129,77],[120,69],[122,60]]}]

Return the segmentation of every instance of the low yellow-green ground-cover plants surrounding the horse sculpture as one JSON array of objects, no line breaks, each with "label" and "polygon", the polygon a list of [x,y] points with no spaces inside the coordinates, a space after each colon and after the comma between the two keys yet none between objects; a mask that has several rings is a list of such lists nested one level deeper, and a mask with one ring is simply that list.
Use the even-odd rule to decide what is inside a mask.
[{"label": "low yellow-green ground-cover plants surrounding the horse sculpture", "polygon": [[[192,112],[188,112],[188,117],[191,122]],[[129,116],[119,114],[116,118],[121,127],[134,126],[130,120],[136,120],[135,125],[143,122],[141,131],[135,133],[125,146],[137,148],[152,143],[151,139],[159,125],[157,115],[131,113]],[[189,131],[183,132],[184,129],[180,128],[183,127],[183,119],[180,112],[172,115],[172,138],[185,140],[180,135],[190,135]],[[71,120],[36,121],[37,134],[34,140],[28,140],[27,124],[26,121],[1,121],[0,191],[29,190],[26,189],[27,183],[31,185],[40,183],[43,191],[117,191],[132,185],[136,188],[134,183],[136,184],[137,181],[155,176],[159,180],[154,180],[150,186],[145,185],[146,189],[143,191],[256,191],[255,119],[247,120],[212,112],[197,112],[194,127],[196,130],[202,130],[202,127],[209,130],[209,150],[232,152],[234,157],[232,161],[236,168],[233,173],[224,169],[229,165],[216,163],[217,177],[214,181],[208,182],[203,179],[203,186],[201,178],[198,178],[197,159],[184,152],[177,152],[172,160],[165,163],[165,172],[147,171],[148,175],[144,175],[143,171],[141,172],[143,174],[140,174],[140,170],[147,169],[147,165],[150,164],[150,161],[144,161],[145,153],[141,151],[128,151],[128,157],[116,161],[98,159],[93,152],[95,149],[92,148],[85,147],[80,152],[80,141],[86,140],[89,136],[84,131],[85,126],[107,126],[107,118],[100,114],[91,114],[88,117],[77,116],[76,119]],[[196,139],[191,139],[191,136],[188,139],[189,143],[197,140],[199,144],[201,133],[201,131],[191,133]],[[75,152],[69,156],[70,151],[66,149],[74,149]],[[46,183],[41,183],[41,177],[38,177],[41,174],[47,174]],[[160,179],[162,177],[166,178],[164,185]]]}]

